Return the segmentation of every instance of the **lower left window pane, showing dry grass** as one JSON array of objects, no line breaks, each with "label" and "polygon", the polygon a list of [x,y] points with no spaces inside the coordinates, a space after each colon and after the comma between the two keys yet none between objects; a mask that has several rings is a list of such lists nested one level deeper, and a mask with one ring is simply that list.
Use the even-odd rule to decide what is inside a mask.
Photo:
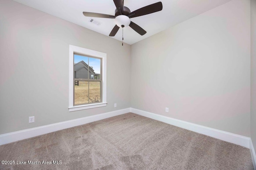
[{"label": "lower left window pane, showing dry grass", "polygon": [[88,81],[77,81],[74,84],[74,100],[75,105],[77,104],[87,104],[88,103]]}]

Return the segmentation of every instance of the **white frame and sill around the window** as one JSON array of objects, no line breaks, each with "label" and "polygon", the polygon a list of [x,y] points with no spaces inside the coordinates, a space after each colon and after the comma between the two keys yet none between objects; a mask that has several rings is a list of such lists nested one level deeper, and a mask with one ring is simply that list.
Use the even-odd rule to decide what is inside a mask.
[{"label": "white frame and sill around the window", "polygon": [[[74,53],[85,56],[98,57],[102,59],[102,102],[74,106]],[[69,45],[69,111],[92,109],[95,107],[107,106],[107,54],[74,45]]]}]

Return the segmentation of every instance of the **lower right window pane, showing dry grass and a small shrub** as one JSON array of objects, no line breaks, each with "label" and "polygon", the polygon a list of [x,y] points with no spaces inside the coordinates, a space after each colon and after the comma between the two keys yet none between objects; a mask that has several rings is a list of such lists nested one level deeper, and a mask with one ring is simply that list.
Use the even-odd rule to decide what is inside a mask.
[{"label": "lower right window pane, showing dry grass and a small shrub", "polygon": [[100,82],[89,82],[89,103],[100,102]]}]

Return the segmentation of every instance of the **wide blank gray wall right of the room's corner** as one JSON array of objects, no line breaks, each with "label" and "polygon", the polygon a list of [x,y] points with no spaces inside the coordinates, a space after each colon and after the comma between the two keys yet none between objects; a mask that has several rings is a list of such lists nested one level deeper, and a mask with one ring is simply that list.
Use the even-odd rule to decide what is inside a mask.
[{"label": "wide blank gray wall right of the room's corner", "polygon": [[135,43],[131,57],[131,107],[250,137],[250,0]]}]

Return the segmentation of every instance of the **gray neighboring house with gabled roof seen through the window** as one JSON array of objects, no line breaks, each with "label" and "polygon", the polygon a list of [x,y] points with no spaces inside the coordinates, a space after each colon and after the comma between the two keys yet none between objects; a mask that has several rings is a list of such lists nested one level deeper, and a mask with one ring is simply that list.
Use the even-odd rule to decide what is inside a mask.
[{"label": "gray neighboring house with gabled roof seen through the window", "polygon": [[[99,79],[100,74],[94,72],[93,67],[89,67],[89,79]],[[74,64],[74,78],[88,79],[88,64],[84,61]]]}]

